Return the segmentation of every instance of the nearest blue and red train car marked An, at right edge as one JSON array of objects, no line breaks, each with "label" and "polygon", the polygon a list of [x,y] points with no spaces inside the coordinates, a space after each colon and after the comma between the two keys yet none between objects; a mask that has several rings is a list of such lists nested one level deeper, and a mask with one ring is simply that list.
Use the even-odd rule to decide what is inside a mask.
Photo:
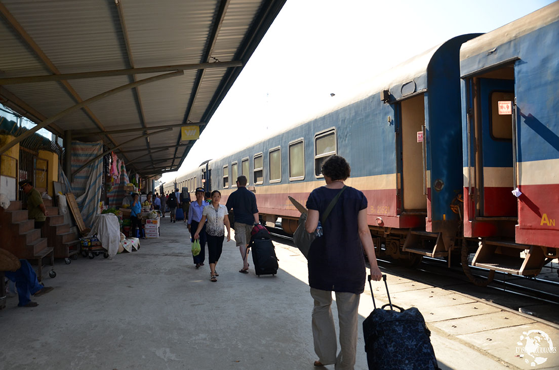
[{"label": "nearest blue and red train car marked An, at right edge", "polygon": [[466,42],[460,59],[464,236],[482,240],[476,265],[538,274],[559,255],[559,2]]}]

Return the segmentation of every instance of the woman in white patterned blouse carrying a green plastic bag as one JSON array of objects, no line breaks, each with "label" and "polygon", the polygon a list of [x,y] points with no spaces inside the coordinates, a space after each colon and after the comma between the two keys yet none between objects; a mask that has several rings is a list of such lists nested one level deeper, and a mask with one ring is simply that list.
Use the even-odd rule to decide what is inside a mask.
[{"label": "woman in white patterned blouse carrying a green plastic bag", "polygon": [[210,262],[211,281],[217,281],[219,274],[215,271],[215,265],[221,256],[223,249],[223,240],[225,239],[225,231],[223,226],[227,228],[227,241],[231,240],[231,227],[229,225],[229,217],[227,208],[220,205],[221,193],[217,190],[211,193],[211,204],[202,210],[202,219],[198,223],[198,228],[194,234],[194,239],[200,238],[200,231],[206,220],[206,240],[208,244],[208,259]]}]

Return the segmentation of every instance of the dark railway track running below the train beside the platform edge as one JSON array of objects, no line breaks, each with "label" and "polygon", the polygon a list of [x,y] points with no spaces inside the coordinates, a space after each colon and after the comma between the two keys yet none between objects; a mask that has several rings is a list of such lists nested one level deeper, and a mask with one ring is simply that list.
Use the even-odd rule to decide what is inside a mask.
[{"label": "dark railway track running below the train beside the platform edge", "polygon": [[[293,246],[293,238],[282,229],[267,227],[274,238]],[[280,241],[280,240],[278,240]],[[542,320],[559,324],[559,278],[557,269],[544,267],[542,277],[524,277],[495,272],[486,287],[473,285],[462,271],[460,264],[448,268],[446,260],[424,257],[414,269],[401,267],[390,259],[377,258],[381,268],[403,277],[432,284],[446,290],[466,293],[479,300],[523,312]],[[486,279],[489,270],[470,265],[474,277]],[[549,278],[547,278],[549,277]]]}]

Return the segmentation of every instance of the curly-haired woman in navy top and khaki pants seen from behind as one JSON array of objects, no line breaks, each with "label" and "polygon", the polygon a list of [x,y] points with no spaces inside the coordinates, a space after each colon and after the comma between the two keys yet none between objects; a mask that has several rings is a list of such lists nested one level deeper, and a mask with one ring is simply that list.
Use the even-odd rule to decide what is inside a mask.
[{"label": "curly-haired woman in navy top and khaki pants seen from behind", "polygon": [[[350,170],[344,158],[330,156],[322,166],[326,186],[314,189],[306,203],[309,213],[305,229],[308,233],[317,231],[318,236],[312,241],[308,257],[310,293],[314,298],[312,335],[319,358],[314,365],[335,364],[337,370],[350,370],[355,365],[357,309],[366,276],[363,249],[371,265],[372,278],[378,281],[382,277],[367,225],[367,198],[344,184]],[[330,208],[328,218],[319,224],[327,208]],[[339,354],[331,312],[332,292],[338,307]]]}]

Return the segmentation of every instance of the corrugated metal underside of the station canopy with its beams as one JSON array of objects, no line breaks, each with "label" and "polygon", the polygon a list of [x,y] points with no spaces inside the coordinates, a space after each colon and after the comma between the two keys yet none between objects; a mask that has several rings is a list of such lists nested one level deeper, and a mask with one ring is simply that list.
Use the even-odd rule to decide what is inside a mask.
[{"label": "corrugated metal underside of the station canopy with its beams", "polygon": [[2,0],[0,103],[141,175],[177,170],[180,127],[203,130],[283,3]]}]

